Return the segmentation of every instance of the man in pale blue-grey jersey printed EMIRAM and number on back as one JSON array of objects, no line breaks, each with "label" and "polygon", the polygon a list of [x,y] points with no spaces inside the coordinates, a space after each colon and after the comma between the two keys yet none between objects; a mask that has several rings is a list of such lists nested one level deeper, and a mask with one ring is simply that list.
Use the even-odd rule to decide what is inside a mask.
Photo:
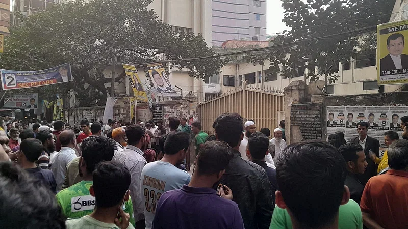
[{"label": "man in pale blue-grey jersey printed EMIRAM and number on back", "polygon": [[[164,156],[162,160],[148,163],[141,175],[141,195],[155,198],[150,205],[144,207],[146,229],[152,227],[155,211],[160,196],[169,190],[179,189],[188,185],[191,178],[187,171],[175,165],[183,162],[190,145],[190,136],[185,132],[174,132],[167,135],[164,142]],[[153,197],[154,196],[154,197]]]}]

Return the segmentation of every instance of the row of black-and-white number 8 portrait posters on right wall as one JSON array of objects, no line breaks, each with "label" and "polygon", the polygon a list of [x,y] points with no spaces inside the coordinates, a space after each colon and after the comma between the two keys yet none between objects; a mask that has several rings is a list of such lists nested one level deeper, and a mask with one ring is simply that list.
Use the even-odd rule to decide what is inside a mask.
[{"label": "row of black-and-white number 8 portrait posters on right wall", "polygon": [[367,122],[367,135],[379,140],[382,157],[386,150],[384,133],[392,130],[402,138],[400,118],[406,115],[408,106],[328,106],[327,139],[328,135],[341,131],[344,133],[344,139],[349,141],[359,136],[359,122]]}]

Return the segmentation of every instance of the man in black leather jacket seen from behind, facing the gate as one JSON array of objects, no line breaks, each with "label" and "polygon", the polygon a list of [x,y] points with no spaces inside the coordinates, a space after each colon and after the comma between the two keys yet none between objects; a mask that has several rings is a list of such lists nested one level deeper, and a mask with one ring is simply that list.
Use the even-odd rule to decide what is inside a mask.
[{"label": "man in black leather jacket seen from behind, facing the gate", "polygon": [[[238,151],[243,120],[238,113],[223,113],[214,122],[216,138],[233,148],[231,159],[220,183],[231,188],[246,229],[269,228],[274,203],[268,175],[261,166],[242,159]],[[218,183],[216,184],[218,186]]]}]

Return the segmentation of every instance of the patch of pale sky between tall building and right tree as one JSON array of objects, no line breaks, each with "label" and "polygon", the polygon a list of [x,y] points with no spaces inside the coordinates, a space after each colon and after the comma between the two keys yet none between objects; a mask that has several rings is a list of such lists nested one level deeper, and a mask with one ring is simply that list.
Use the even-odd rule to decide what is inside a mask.
[{"label": "patch of pale sky between tall building and right tree", "polygon": [[287,30],[284,18],[284,9],[282,8],[281,0],[270,0],[266,4],[266,33],[278,33]]}]

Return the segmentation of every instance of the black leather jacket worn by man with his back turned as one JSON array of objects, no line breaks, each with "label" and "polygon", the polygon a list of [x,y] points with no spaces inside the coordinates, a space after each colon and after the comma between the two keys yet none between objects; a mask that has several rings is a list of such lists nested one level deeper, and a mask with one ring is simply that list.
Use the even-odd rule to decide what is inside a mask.
[{"label": "black leather jacket worn by man with his back turned", "polygon": [[245,229],[269,228],[275,205],[265,169],[242,159],[241,153],[234,150],[234,157],[219,183],[231,188]]}]

